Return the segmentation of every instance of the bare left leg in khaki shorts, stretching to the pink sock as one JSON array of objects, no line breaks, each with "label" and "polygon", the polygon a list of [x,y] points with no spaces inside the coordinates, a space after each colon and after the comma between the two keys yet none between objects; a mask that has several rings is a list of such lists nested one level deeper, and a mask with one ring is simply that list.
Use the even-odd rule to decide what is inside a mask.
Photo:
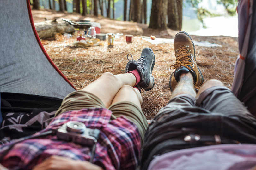
[{"label": "bare left leg in khaki shorts, stretching to the pink sock", "polygon": [[99,97],[106,108],[108,108],[122,86],[129,85],[133,87],[135,83],[136,77],[132,73],[113,75],[112,73],[106,72],[82,90]]}]

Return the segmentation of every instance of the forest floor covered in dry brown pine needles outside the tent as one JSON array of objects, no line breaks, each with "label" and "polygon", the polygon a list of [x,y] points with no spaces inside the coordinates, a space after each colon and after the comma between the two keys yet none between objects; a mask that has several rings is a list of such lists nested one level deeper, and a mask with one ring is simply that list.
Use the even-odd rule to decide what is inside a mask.
[{"label": "forest floor covered in dry brown pine needles outside the tent", "polygon": [[[76,48],[73,43],[76,37],[65,39],[63,35],[41,40],[47,54],[55,65],[80,90],[96,80],[104,72],[113,74],[124,73],[128,60],[126,55],[131,53],[133,59],[140,57],[143,48],[149,47],[155,53],[155,67],[152,74],[155,87],[142,93],[142,109],[147,119],[152,119],[155,114],[165,106],[171,94],[169,78],[173,70],[170,65],[175,62],[173,43],[154,45],[142,39],[141,36],[154,35],[157,38],[174,38],[178,31],[153,30],[148,25],[128,21],[111,20],[104,17],[81,16],[80,14],[60,13],[50,10],[32,10],[34,22],[44,21],[45,18],[66,18],[74,21],[90,20],[101,24],[101,33],[123,33],[114,39],[114,48],[107,48],[107,41],[101,46]],[[132,34],[134,41],[127,44],[125,34]],[[235,60],[239,55],[238,42],[235,37],[225,36],[191,36],[193,41],[208,41],[222,47],[202,47],[195,45],[196,60],[200,67],[204,83],[210,79],[221,80],[225,86],[231,88],[234,78]],[[68,45],[68,46],[67,46]]]}]

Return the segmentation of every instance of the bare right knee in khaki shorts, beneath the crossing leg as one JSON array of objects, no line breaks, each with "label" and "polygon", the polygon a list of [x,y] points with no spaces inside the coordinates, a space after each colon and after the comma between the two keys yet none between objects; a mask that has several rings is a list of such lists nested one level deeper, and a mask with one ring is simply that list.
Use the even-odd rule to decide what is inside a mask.
[{"label": "bare right knee in khaki shorts, beneath the crossing leg", "polygon": [[142,104],[141,94],[139,90],[131,86],[128,86],[128,85],[123,86],[114,97],[111,105],[120,101],[132,102],[141,109],[141,104]]}]

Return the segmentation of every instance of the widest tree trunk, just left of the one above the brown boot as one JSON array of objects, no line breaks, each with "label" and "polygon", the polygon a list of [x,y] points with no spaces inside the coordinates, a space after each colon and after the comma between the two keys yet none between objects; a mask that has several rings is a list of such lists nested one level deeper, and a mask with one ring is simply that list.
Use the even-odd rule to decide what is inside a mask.
[{"label": "widest tree trunk, just left of the one above the brown boot", "polygon": [[168,0],[152,0],[149,28],[162,30],[167,29],[167,6]]}]

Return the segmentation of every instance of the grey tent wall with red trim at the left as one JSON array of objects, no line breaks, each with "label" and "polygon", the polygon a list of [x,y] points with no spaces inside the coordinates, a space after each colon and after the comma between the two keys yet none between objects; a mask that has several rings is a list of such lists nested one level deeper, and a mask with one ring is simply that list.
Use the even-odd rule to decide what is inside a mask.
[{"label": "grey tent wall with red trim at the left", "polygon": [[75,91],[43,48],[29,0],[2,0],[0,9],[0,92],[63,99]]}]

